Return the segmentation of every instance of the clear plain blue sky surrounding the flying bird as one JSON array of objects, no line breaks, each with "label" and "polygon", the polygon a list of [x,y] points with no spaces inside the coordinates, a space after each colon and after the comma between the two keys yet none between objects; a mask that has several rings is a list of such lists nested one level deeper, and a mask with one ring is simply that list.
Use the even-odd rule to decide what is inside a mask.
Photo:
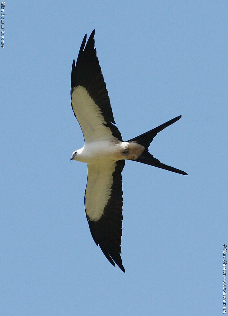
[{"label": "clear plain blue sky surrounding the flying bird", "polygon": [[[227,2],[5,4],[1,57],[1,315],[222,315],[227,244]],[[127,161],[122,260],[84,211],[72,60],[95,45],[123,139],[178,115],[150,152],[188,176]]]}]

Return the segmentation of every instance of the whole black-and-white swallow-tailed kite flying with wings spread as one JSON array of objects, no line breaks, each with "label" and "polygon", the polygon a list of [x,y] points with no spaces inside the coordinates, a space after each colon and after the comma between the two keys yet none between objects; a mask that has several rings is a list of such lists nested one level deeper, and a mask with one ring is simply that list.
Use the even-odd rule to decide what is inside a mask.
[{"label": "whole black-and-white swallow-tailed kite flying with wings spread", "polygon": [[101,72],[96,48],[95,30],[86,43],[86,34],[77,62],[71,71],[71,106],[78,120],[85,144],[73,152],[71,160],[88,164],[85,190],[85,211],[89,229],[96,245],[108,261],[125,272],[122,265],[122,206],[121,172],[125,160],[145,163],[154,167],[187,175],[182,170],[167,166],[149,153],[149,146],[158,132],[175,123],[174,119],[126,142],[116,127],[108,91]]}]

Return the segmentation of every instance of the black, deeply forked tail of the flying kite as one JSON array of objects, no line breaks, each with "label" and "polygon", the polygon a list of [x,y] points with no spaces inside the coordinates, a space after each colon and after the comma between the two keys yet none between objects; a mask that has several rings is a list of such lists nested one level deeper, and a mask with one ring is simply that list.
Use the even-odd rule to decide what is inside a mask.
[{"label": "black, deeply forked tail of the flying kite", "polygon": [[150,166],[154,166],[154,167],[162,168],[162,169],[169,170],[172,172],[187,175],[187,173],[182,171],[182,170],[179,170],[179,169],[176,169],[174,167],[170,167],[170,166],[167,166],[167,165],[161,163],[158,159],[154,158],[153,155],[151,155],[149,153],[149,150],[148,150],[150,143],[152,142],[153,138],[157,135],[157,133],[162,131],[167,126],[175,123],[180,118],[181,118],[181,115],[177,116],[174,119],[170,119],[168,122],[166,122],[158,127],[155,127],[152,130],[150,130],[144,134],[141,134],[137,137],[134,137],[134,138],[128,140],[127,143],[136,142],[136,143],[139,143],[140,145],[143,145],[145,147],[145,150],[142,153],[142,155],[140,155],[135,160],[132,159],[132,161],[142,162],[142,163],[145,163],[145,164],[150,165]]}]

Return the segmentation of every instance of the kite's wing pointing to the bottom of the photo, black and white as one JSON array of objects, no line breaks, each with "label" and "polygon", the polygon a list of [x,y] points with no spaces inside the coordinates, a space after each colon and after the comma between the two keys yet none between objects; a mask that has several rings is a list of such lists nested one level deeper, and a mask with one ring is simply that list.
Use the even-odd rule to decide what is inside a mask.
[{"label": "kite's wing pointing to the bottom of the photo, black and white", "polygon": [[92,237],[105,257],[125,272],[122,265],[122,177],[125,161],[112,164],[88,164],[85,210]]}]

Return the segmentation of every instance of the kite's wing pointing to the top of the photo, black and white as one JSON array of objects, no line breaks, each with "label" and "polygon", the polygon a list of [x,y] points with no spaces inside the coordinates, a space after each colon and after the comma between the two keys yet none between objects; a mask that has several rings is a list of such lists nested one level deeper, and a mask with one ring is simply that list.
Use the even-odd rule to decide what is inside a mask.
[{"label": "kite's wing pointing to the top of the photo, black and white", "polygon": [[71,71],[71,106],[83,131],[85,142],[110,140],[122,137],[113,118],[108,91],[101,73],[94,33],[86,34],[80,47],[77,62],[73,60]]}]

